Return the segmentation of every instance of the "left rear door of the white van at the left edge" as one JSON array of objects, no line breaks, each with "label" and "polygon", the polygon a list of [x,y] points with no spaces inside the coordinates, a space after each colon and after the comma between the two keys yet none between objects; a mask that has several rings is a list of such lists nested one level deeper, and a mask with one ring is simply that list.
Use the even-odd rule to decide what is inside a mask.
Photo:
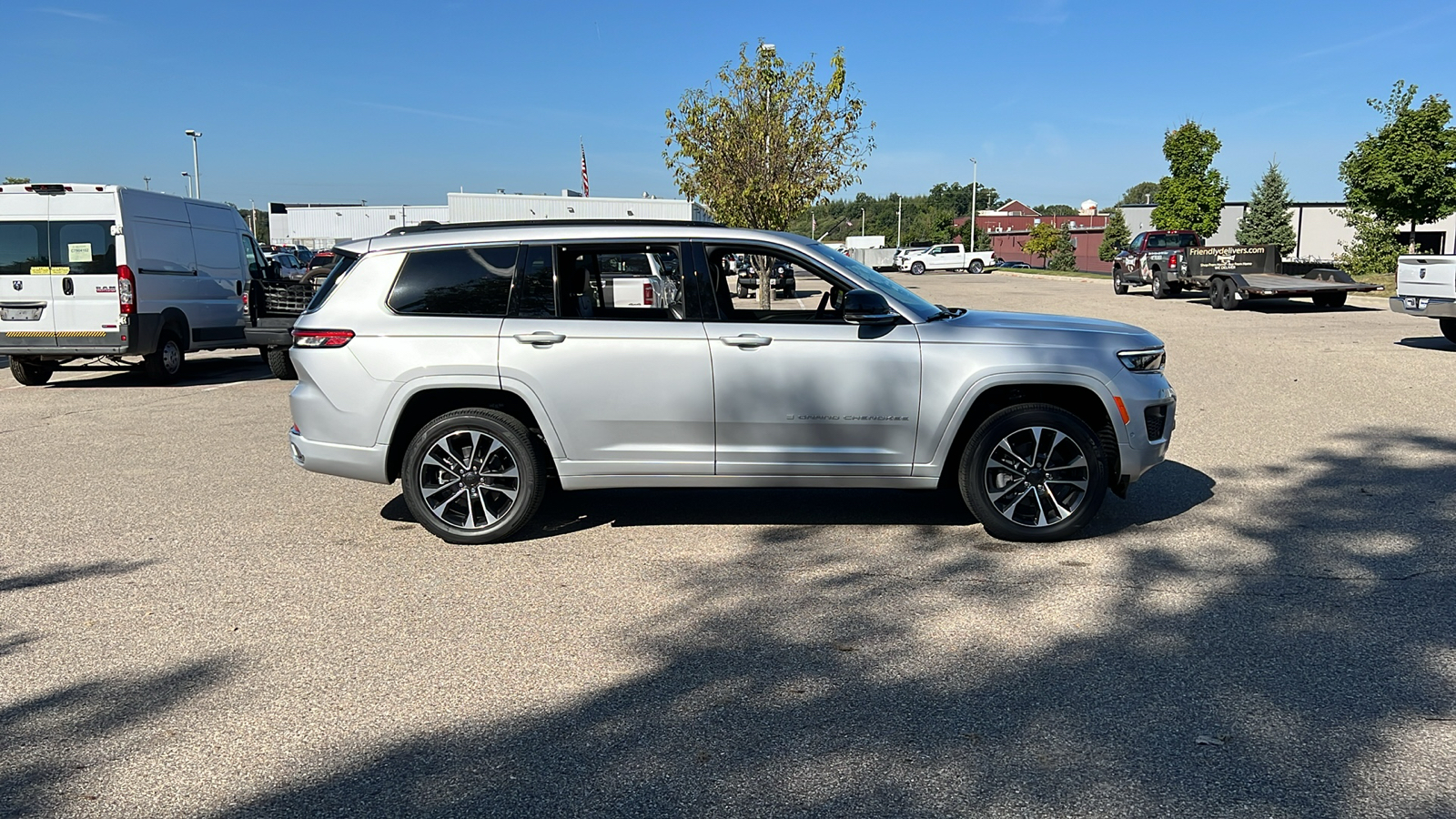
[{"label": "left rear door of the white van at the left edge", "polygon": [[[20,347],[55,347],[55,309],[51,303],[51,249],[45,217],[50,197],[0,194],[0,351]],[[16,208],[22,203],[26,208]]]}]

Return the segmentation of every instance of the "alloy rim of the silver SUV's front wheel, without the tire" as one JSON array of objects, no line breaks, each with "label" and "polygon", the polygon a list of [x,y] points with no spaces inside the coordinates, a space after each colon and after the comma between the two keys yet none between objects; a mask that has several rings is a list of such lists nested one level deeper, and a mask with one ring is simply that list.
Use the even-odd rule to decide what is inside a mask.
[{"label": "alloy rim of the silver SUV's front wheel, without the tire", "polygon": [[1082,507],[1091,475],[1086,453],[1070,436],[1056,427],[1024,427],[992,447],[981,479],[1002,517],[1041,529]]}]

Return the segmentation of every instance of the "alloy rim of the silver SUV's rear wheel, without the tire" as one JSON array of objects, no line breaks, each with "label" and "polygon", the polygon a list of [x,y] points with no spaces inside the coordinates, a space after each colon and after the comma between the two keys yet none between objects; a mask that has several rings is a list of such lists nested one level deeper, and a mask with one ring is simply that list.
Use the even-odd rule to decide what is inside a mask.
[{"label": "alloy rim of the silver SUV's rear wheel, without the tire", "polygon": [[521,479],[515,453],[479,430],[453,430],[419,462],[419,494],[437,520],[456,529],[494,526],[515,506]]}]

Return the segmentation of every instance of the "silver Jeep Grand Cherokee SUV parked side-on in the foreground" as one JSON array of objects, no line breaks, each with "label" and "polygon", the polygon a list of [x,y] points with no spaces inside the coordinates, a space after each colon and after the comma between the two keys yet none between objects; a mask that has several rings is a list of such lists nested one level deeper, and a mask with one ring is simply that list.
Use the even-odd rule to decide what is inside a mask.
[{"label": "silver Jeep Grand Cherokee SUV parked side-on in the foreground", "polygon": [[[986,530],[1075,535],[1168,450],[1163,345],[930,305],[818,242],[693,223],[409,227],[342,245],[294,326],[288,434],[453,544],[547,484],[958,488]],[[783,264],[769,309],[738,259]]]}]

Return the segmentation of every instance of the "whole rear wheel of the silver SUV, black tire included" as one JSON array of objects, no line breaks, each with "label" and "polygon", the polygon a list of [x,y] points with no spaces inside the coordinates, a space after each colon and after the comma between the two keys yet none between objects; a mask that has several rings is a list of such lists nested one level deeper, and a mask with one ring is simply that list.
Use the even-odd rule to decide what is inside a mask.
[{"label": "whole rear wheel of the silver SUV, black tire included", "polygon": [[[478,449],[486,439],[491,444],[476,461]],[[427,455],[434,465],[425,462]],[[515,474],[505,475],[508,471]],[[425,424],[409,442],[400,466],[405,504],[415,520],[441,541],[462,545],[494,544],[514,535],[540,507],[545,477],[546,469],[526,426],[505,412],[478,407],[446,412]],[[508,494],[511,482],[514,497]],[[453,487],[460,490],[440,503],[438,495],[454,491]],[[462,493],[466,498],[463,507]],[[431,500],[440,503],[438,513]],[[476,512],[488,520],[486,525],[475,525]],[[491,522],[491,517],[495,520]]]}]

